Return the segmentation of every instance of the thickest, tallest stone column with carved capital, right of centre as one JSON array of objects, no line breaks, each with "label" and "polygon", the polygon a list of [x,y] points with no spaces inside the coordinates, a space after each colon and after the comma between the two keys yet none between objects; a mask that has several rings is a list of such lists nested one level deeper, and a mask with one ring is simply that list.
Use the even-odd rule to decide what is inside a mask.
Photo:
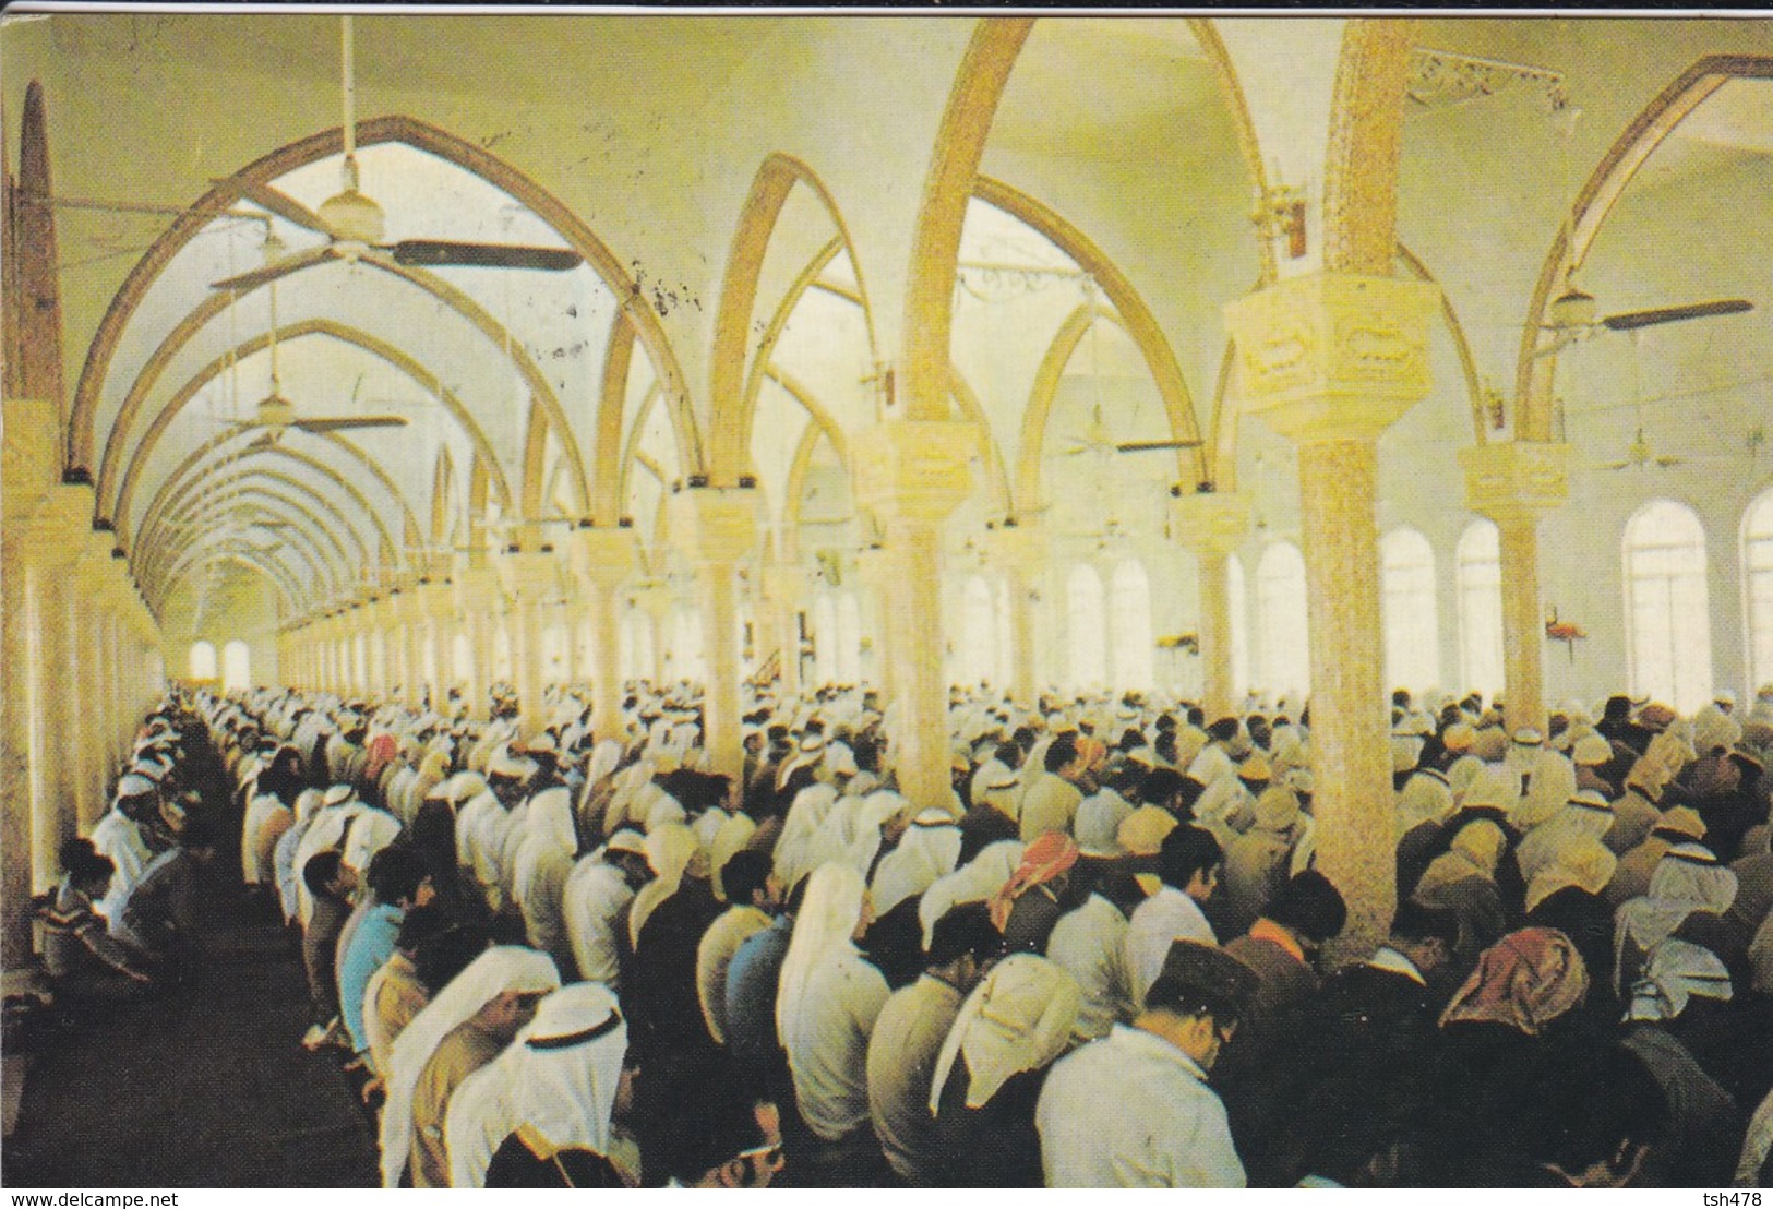
[{"label": "thickest, tallest stone column with carved capital, right of centre", "polygon": [[1397,904],[1378,438],[1429,392],[1438,301],[1422,282],[1317,273],[1225,307],[1245,413],[1300,447],[1317,867],[1349,906],[1339,959],[1383,941]]}]

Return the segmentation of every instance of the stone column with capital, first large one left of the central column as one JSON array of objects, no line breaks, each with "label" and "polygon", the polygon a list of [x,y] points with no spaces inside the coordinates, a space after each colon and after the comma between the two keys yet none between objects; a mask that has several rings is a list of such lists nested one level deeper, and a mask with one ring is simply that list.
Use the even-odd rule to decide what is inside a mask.
[{"label": "stone column with capital, first large one left of the central column", "polygon": [[679,491],[670,509],[672,544],[695,567],[702,612],[702,656],[707,682],[702,720],[709,768],[738,778],[745,769],[739,729],[738,566],[757,542],[757,500],[738,488]]}]

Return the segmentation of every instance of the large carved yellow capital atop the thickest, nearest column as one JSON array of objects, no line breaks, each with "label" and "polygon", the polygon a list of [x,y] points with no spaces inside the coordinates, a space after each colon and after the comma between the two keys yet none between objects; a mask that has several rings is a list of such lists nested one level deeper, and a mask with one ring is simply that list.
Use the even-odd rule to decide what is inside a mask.
[{"label": "large carved yellow capital atop the thickest, nearest column", "polygon": [[1374,440],[1429,394],[1427,282],[1312,273],[1225,305],[1245,415],[1300,443]]}]

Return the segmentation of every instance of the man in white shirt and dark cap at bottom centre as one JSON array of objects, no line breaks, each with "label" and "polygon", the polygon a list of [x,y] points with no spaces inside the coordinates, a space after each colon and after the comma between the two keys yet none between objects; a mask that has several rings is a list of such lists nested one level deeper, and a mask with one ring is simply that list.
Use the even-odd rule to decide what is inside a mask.
[{"label": "man in white shirt and dark cap at bottom centre", "polygon": [[1243,1188],[1207,1072],[1255,982],[1222,948],[1172,945],[1133,1025],[1115,1025],[1046,1076],[1035,1126],[1048,1188]]}]

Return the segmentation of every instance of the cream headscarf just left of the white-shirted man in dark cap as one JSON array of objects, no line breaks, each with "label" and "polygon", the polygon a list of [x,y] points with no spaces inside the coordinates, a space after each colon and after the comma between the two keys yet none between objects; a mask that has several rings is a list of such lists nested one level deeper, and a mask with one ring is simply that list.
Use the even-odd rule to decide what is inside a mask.
[{"label": "cream headscarf just left of the white-shirted man in dark cap", "polygon": [[949,1030],[929,1088],[931,1115],[965,1055],[966,1106],[984,1108],[1012,1074],[1037,1071],[1071,1041],[1083,991],[1062,966],[1034,954],[1005,957],[973,987]]}]

